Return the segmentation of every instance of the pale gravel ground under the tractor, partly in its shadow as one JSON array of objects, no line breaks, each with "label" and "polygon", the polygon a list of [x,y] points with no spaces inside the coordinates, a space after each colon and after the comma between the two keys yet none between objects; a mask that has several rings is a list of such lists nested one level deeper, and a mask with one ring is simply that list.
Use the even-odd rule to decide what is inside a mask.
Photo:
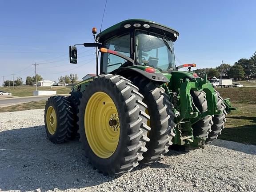
[{"label": "pale gravel ground under the tractor, partly in its shadow", "polygon": [[52,144],[44,111],[0,113],[0,191],[256,192],[256,146],[216,140],[204,150],[170,151],[149,167],[103,176],[78,141]]}]

